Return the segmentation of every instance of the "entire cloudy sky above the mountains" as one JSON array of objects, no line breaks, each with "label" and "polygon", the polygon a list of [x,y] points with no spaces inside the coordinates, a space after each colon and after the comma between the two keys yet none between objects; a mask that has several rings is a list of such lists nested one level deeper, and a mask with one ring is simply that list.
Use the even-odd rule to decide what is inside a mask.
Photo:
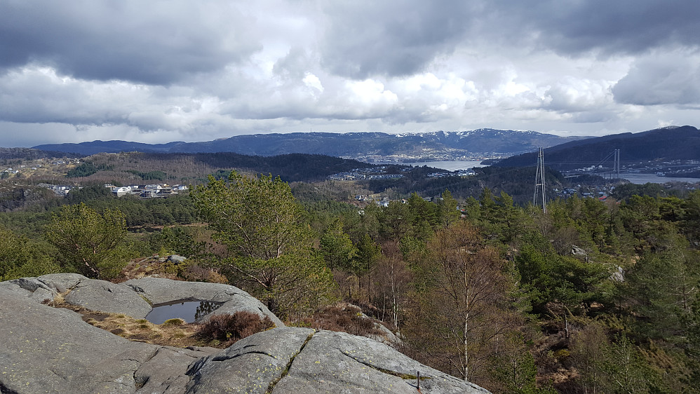
[{"label": "entire cloudy sky above the mountains", "polygon": [[0,0],[0,147],[699,120],[697,0]]}]

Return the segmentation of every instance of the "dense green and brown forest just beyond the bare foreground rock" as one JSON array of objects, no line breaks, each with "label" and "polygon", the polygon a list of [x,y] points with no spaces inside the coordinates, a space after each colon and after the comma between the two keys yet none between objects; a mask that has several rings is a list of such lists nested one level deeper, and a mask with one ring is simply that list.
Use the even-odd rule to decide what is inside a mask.
[{"label": "dense green and brown forest just beyond the bare foreground rock", "polygon": [[[607,201],[573,196],[544,212],[504,191],[518,170],[482,174],[492,181],[421,186],[234,171],[154,199],[83,187],[0,213],[0,280],[138,271],[230,283],[290,325],[335,313],[335,329],[357,333],[338,315],[351,304],[400,332],[412,358],[495,393],[700,389],[700,191],[623,184]],[[350,203],[386,187],[404,201]],[[90,253],[74,250],[83,242]],[[135,264],[154,254],[188,259]]]}]

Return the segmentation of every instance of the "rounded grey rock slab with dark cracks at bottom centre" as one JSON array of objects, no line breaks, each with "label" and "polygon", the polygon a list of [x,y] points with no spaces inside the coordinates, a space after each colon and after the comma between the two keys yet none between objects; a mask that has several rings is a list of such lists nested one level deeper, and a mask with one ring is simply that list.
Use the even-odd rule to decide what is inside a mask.
[{"label": "rounded grey rock slab with dark cracks at bottom centre", "polygon": [[187,393],[487,393],[372,339],[308,328],[241,339],[188,374]]}]

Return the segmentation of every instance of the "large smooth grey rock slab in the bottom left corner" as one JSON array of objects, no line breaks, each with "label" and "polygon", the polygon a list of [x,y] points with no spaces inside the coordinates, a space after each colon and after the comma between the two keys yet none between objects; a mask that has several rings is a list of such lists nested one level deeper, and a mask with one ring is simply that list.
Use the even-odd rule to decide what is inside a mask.
[{"label": "large smooth grey rock slab in the bottom left corner", "polygon": [[[130,342],[7,286],[0,286],[0,299],[1,393],[136,393],[135,376],[151,386],[184,384],[189,363],[218,351]],[[162,358],[177,365],[166,367]]]}]

